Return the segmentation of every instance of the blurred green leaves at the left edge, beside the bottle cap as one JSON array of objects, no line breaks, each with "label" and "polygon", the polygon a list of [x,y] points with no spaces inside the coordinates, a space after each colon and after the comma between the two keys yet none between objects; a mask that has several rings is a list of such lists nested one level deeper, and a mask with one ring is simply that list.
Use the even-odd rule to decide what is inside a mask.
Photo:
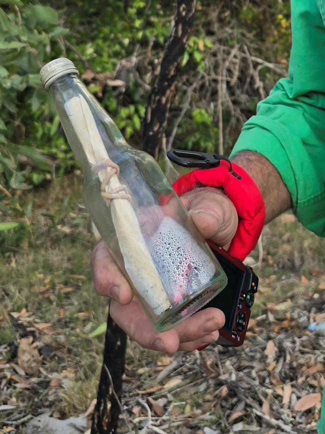
[{"label": "blurred green leaves at the left edge, beside the bottle cap", "polygon": [[3,0],[0,5],[6,5],[0,8],[0,184],[10,191],[39,184],[52,171],[35,149],[49,112],[38,73],[62,30],[49,7]]}]

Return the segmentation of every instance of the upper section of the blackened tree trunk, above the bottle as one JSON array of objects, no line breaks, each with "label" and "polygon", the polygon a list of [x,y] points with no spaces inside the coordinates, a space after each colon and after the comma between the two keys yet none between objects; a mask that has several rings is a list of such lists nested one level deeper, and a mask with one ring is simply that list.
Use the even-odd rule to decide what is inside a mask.
[{"label": "upper section of the blackened tree trunk, above the bottle", "polygon": [[143,124],[143,151],[156,160],[165,149],[165,129],[180,62],[185,53],[194,20],[196,0],[177,0],[174,26],[161,62],[154,71]]}]

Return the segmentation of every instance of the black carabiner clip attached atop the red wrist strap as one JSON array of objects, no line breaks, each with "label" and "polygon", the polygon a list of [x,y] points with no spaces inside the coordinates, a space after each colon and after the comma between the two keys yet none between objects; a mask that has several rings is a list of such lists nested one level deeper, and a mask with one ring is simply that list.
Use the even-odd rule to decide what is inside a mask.
[{"label": "black carabiner clip attached atop the red wrist strap", "polygon": [[167,152],[167,157],[173,163],[183,167],[197,167],[201,169],[210,169],[218,167],[221,160],[229,163],[229,172],[238,180],[241,176],[238,175],[233,169],[231,161],[223,155],[211,154],[207,152],[186,151],[184,149],[172,149]]}]

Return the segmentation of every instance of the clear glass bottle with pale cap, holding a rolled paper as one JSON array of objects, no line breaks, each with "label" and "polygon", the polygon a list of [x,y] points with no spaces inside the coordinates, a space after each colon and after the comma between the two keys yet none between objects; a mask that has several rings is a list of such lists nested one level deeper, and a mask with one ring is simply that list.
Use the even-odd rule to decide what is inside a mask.
[{"label": "clear glass bottle with pale cap, holding a rolled paper", "polygon": [[130,147],[68,59],[40,71],[84,173],[83,201],[156,330],[188,317],[226,276],[147,153]]}]

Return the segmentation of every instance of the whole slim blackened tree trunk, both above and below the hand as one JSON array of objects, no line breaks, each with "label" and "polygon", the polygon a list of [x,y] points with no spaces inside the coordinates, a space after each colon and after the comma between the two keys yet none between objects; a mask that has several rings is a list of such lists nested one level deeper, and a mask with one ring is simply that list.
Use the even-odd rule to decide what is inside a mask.
[{"label": "whole slim blackened tree trunk, both above and below the hand", "polygon": [[[196,0],[177,0],[168,43],[155,70],[143,125],[143,150],[155,159],[165,148],[165,128],[181,59],[194,19]],[[120,414],[122,375],[125,365],[126,335],[108,314],[103,366],[91,434],[116,434]]]}]

